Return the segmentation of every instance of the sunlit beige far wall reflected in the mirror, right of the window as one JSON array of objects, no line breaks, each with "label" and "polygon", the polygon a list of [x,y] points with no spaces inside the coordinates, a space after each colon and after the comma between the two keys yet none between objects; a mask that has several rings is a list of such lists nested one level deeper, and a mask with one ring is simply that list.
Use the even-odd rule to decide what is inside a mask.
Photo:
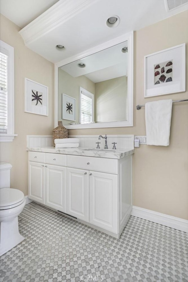
[{"label": "sunlit beige far wall reflected in the mirror, right of the window", "polygon": [[127,76],[95,83],[95,121],[127,120]]}]

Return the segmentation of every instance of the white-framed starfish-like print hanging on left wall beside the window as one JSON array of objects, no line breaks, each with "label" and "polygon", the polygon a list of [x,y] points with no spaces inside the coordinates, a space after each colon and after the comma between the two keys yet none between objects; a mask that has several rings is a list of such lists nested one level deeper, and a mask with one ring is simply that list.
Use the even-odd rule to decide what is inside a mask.
[{"label": "white-framed starfish-like print hanging on left wall beside the window", "polygon": [[48,116],[48,87],[25,78],[24,112]]}]

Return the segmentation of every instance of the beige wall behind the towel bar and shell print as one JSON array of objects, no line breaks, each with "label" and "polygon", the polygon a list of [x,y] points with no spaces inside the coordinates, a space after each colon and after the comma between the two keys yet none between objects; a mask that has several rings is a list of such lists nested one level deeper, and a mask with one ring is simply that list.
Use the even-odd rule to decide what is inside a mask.
[{"label": "beige wall behind the towel bar and shell print", "polygon": [[[145,109],[137,104],[160,99],[187,99],[188,92],[144,98],[144,56],[186,43],[188,11],[135,32],[134,127],[69,130],[70,135],[145,135]],[[188,73],[188,55],[186,60]],[[188,87],[188,76],[186,76]],[[118,147],[118,144],[117,144]],[[133,156],[133,205],[188,219],[188,102],[174,103],[170,145],[141,145]]]}]

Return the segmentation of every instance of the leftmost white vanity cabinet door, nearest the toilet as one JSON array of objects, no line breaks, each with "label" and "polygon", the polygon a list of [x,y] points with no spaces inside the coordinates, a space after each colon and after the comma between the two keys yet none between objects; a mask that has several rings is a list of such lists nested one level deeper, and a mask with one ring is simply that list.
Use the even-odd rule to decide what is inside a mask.
[{"label": "leftmost white vanity cabinet door, nearest the toilet", "polygon": [[29,162],[28,164],[28,198],[45,204],[44,201],[44,164]]}]

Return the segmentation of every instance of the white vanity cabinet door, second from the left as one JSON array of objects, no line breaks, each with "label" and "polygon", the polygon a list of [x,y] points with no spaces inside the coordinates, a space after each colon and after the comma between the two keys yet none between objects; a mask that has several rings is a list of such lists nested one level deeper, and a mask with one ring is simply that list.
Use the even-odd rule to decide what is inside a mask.
[{"label": "white vanity cabinet door, second from the left", "polygon": [[45,164],[46,205],[66,212],[66,167]]}]

